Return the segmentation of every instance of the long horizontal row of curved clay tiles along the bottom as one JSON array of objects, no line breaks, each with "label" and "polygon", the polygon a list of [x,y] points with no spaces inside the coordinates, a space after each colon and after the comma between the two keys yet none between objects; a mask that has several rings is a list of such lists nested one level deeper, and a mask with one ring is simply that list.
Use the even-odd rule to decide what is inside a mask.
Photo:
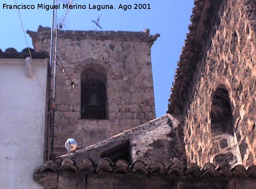
[{"label": "long horizontal row of curved clay tiles along the bottom", "polygon": [[101,159],[97,164],[91,159],[84,159],[80,165],[75,165],[72,159],[63,159],[61,165],[53,161],[47,161],[40,167],[36,173],[44,172],[62,172],[70,170],[72,172],[86,173],[119,173],[119,174],[143,174],[143,175],[172,175],[175,177],[252,177],[256,178],[256,165],[251,165],[247,169],[242,165],[230,167],[229,164],[222,163],[214,166],[212,163],[206,163],[200,168],[196,163],[189,163],[183,166],[180,163],[170,163],[166,166],[161,162],[146,165],[143,161],[135,161],[129,165],[124,160],[113,163],[108,158]]}]

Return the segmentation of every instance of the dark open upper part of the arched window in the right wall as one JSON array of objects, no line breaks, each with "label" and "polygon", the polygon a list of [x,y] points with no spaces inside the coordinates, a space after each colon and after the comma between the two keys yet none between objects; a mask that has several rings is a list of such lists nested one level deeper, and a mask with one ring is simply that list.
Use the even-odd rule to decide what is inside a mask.
[{"label": "dark open upper part of the arched window in the right wall", "polygon": [[211,131],[215,137],[221,134],[234,136],[233,115],[230,106],[228,90],[221,84],[214,91],[210,112]]}]

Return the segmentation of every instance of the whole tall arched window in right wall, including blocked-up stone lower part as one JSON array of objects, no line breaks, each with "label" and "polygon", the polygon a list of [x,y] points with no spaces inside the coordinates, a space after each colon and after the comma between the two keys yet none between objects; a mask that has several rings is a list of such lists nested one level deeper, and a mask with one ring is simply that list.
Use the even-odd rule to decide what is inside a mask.
[{"label": "whole tall arched window in right wall, including blocked-up stone lower part", "polygon": [[228,90],[221,84],[213,92],[211,118],[211,152],[212,163],[242,163]]}]

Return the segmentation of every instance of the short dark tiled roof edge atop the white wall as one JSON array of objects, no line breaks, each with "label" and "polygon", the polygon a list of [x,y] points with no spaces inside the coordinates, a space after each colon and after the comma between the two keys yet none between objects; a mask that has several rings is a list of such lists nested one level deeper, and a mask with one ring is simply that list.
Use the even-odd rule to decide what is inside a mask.
[{"label": "short dark tiled roof edge atop the white wall", "polygon": [[[49,58],[49,54],[46,51],[35,52],[31,48],[29,49],[33,59]],[[18,52],[14,48],[7,48],[4,52],[0,49],[0,58],[25,59],[28,56],[30,56],[28,48],[23,49],[21,52]]]}]

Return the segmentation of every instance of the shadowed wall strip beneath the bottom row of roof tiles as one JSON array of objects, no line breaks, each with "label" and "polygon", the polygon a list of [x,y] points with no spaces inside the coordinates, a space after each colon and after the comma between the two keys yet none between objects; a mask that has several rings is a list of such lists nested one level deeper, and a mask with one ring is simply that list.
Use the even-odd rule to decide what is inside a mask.
[{"label": "shadowed wall strip beneath the bottom row of roof tiles", "polygon": [[[139,174],[139,175],[138,175]],[[155,173],[158,174],[158,173]],[[241,179],[233,177],[177,177],[173,175],[158,176],[158,175],[141,175],[135,174],[93,174],[80,173],[74,174],[72,171],[63,171],[59,174],[47,172],[43,175],[46,177],[44,181],[45,189],[254,189],[256,186],[255,179]],[[51,181],[49,181],[51,180]]]}]

